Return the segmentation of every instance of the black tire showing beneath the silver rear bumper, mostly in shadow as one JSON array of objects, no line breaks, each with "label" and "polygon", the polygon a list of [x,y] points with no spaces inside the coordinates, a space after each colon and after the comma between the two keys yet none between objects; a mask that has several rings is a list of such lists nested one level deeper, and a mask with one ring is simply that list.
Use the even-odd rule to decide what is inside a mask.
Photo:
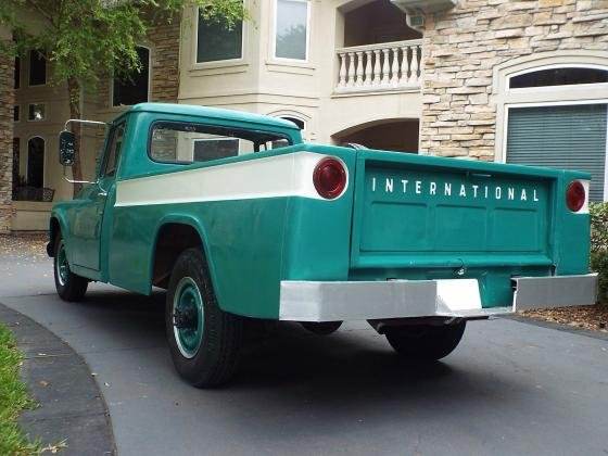
[{"label": "black tire showing beneath the silver rear bumper, mostly in shadow", "polygon": [[388,328],[385,335],[400,355],[417,360],[436,360],[449,355],[463,339],[467,321],[454,325],[401,326]]}]

